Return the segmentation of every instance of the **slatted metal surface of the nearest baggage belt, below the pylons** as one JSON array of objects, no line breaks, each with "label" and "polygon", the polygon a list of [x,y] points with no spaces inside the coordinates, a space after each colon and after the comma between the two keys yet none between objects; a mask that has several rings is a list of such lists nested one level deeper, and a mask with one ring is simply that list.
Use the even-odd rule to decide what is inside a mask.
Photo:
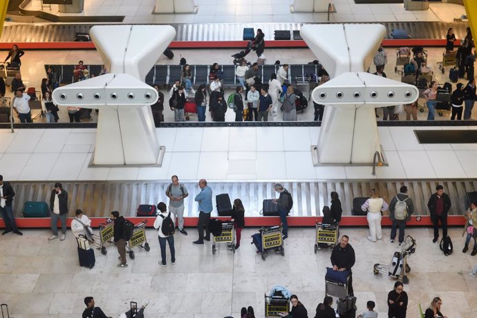
[{"label": "slatted metal surface of the nearest baggage belt, below the pylons", "polygon": [[[369,168],[371,171],[371,167]],[[465,193],[477,191],[476,180],[313,180],[310,182],[284,182],[292,193],[294,205],[291,216],[320,216],[325,205],[330,205],[330,192],[337,191],[342,200],[343,215],[351,215],[353,198],[368,196],[371,189],[379,189],[389,203],[402,185],[409,189],[413,199],[415,214],[426,215],[427,200],[438,183],[444,186],[452,201],[450,214],[460,215],[465,211]],[[12,182],[16,196],[14,211],[19,216],[25,201],[46,201],[49,204],[53,182],[22,183]],[[140,204],[168,203],[165,191],[169,181],[157,182],[64,182],[68,191],[69,211],[73,215],[76,209],[82,209],[88,216],[109,216],[109,212],[118,210],[125,216],[135,216]],[[185,216],[197,216],[197,204],[194,197],[199,188],[196,182],[184,183],[189,191],[185,199]],[[228,193],[231,200],[241,198],[247,216],[259,216],[265,198],[276,198],[273,183],[247,181],[209,183],[216,194]],[[215,199],[214,199],[215,200]],[[215,205],[215,203],[214,203]],[[215,209],[214,209],[215,210]],[[213,215],[216,215],[214,212]]]}]

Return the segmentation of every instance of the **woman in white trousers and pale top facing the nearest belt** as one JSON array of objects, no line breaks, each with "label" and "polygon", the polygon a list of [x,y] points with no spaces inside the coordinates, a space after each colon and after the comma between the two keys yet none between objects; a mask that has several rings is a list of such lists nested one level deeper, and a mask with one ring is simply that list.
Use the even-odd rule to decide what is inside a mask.
[{"label": "woman in white trousers and pale top facing the nearest belt", "polygon": [[364,212],[368,212],[368,214],[366,214],[366,219],[368,220],[369,225],[368,240],[375,242],[382,239],[381,212],[388,209],[388,204],[383,198],[381,198],[380,191],[377,191],[377,189],[371,189],[371,198],[366,200],[361,209]]}]

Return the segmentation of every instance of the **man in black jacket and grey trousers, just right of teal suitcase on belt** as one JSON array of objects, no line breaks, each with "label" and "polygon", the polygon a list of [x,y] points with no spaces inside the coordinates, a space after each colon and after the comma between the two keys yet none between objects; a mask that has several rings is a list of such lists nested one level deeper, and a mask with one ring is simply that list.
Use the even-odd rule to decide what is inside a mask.
[{"label": "man in black jacket and grey trousers, just right of teal suitcase on belt", "polygon": [[51,232],[53,235],[48,238],[49,241],[58,238],[58,218],[62,223],[62,236],[60,241],[66,238],[66,216],[68,216],[68,192],[66,192],[61,183],[55,183],[55,188],[51,190],[50,195],[51,211]]}]

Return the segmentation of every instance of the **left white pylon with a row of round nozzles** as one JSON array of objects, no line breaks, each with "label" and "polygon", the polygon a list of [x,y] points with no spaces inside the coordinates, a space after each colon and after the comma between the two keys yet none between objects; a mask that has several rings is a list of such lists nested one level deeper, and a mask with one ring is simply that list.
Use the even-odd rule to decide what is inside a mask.
[{"label": "left white pylon with a row of round nozzles", "polygon": [[156,165],[160,145],[151,107],[156,90],[144,79],[176,36],[171,26],[93,26],[109,74],[53,91],[59,106],[99,109],[93,165]]}]

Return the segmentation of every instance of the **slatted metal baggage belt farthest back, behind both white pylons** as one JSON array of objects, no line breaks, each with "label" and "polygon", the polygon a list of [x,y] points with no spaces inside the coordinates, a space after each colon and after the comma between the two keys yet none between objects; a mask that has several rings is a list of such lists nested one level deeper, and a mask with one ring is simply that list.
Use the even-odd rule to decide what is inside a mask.
[{"label": "slatted metal baggage belt farthest back, behind both white pylons", "polygon": [[[414,39],[445,39],[453,28],[458,39],[465,37],[467,22],[385,22],[388,30],[405,29]],[[73,41],[76,32],[88,32],[94,24],[15,24],[3,27],[0,42],[62,42]],[[177,31],[174,41],[236,41],[241,40],[244,27],[261,28],[265,39],[273,39],[274,30],[300,30],[299,23],[256,24],[172,24]]]}]

